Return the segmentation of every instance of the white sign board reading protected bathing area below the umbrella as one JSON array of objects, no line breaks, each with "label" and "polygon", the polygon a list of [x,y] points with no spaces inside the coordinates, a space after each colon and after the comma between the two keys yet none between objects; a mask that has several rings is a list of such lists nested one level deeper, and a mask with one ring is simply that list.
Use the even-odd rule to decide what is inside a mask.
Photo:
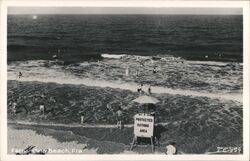
[{"label": "white sign board reading protected bathing area below the umbrella", "polygon": [[134,116],[134,134],[137,137],[152,137],[154,133],[154,116],[139,115]]}]

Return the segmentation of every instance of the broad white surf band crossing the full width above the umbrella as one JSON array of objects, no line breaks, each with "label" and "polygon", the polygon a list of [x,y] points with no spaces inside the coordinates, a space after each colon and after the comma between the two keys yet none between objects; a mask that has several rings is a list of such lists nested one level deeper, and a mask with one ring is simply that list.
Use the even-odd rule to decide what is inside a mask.
[{"label": "broad white surf band crossing the full width above the umbrella", "polygon": [[[67,77],[63,78],[34,78],[34,77],[22,77],[17,79],[15,77],[8,76],[8,80],[16,80],[16,81],[37,81],[44,83],[58,83],[58,84],[73,84],[73,85],[86,85],[93,87],[110,87],[117,88],[123,90],[130,90],[132,92],[137,92],[138,84],[135,83],[124,83],[124,82],[108,82],[104,80],[92,80],[89,78],[79,79],[69,79]],[[145,85],[146,86],[146,85]],[[191,90],[182,90],[182,89],[170,89],[166,87],[159,86],[151,86],[152,93],[166,93],[166,94],[175,94],[175,95],[184,95],[184,96],[194,96],[194,97],[208,97],[212,99],[222,99],[222,100],[232,100],[237,102],[243,102],[243,96],[240,93],[236,94],[225,94],[225,93],[205,93]]]}]

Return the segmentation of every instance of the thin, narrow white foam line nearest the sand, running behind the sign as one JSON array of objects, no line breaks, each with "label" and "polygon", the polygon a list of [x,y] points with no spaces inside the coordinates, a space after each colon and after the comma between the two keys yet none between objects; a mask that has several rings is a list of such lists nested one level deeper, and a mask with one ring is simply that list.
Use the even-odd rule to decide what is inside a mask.
[{"label": "thin, narrow white foam line nearest the sand, running behind the sign", "polygon": [[[27,121],[8,121],[8,124],[20,124],[20,125],[29,125],[29,126],[52,126],[52,127],[82,127],[82,128],[117,128],[117,125],[110,125],[110,124],[57,124],[57,123],[36,123],[36,122],[27,122]],[[168,125],[169,122],[164,123],[156,123],[155,125]],[[134,124],[125,124],[123,127],[134,127]]]}]

